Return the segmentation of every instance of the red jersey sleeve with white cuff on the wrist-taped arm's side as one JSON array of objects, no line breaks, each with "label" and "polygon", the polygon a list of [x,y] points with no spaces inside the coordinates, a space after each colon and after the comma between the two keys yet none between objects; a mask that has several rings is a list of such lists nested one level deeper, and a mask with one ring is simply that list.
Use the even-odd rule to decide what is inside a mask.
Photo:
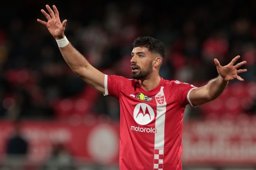
[{"label": "red jersey sleeve with white cuff on the wrist-taped arm's side", "polygon": [[106,75],[104,78],[105,93],[104,96],[114,96],[119,98],[122,77],[117,75]]}]

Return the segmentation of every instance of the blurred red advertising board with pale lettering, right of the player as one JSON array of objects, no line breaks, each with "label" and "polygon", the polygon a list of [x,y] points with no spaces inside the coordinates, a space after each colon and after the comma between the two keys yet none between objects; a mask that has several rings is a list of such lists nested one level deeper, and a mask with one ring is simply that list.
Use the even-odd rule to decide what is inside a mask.
[{"label": "blurred red advertising board with pale lettering, right of the player", "polygon": [[256,118],[189,121],[182,144],[186,165],[255,166]]}]

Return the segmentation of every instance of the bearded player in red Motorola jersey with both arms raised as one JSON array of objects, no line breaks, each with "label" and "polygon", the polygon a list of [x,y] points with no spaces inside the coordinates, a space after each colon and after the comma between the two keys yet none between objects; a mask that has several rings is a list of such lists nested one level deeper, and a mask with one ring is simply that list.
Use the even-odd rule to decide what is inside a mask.
[{"label": "bearded player in red Motorola jersey with both arms raised", "polygon": [[[181,170],[182,117],[187,104],[199,106],[217,98],[228,81],[243,79],[237,70],[246,62],[235,64],[240,56],[226,66],[214,62],[219,73],[202,87],[159,76],[165,56],[163,43],[152,37],[139,37],[133,43],[131,72],[133,79],[105,75],[85,59],[64,35],[67,20],[62,23],[56,6],[46,5],[41,12],[45,25],[56,39],[61,54],[86,83],[104,95],[115,96],[120,103],[120,170]],[[234,65],[235,64],[235,65]]]}]

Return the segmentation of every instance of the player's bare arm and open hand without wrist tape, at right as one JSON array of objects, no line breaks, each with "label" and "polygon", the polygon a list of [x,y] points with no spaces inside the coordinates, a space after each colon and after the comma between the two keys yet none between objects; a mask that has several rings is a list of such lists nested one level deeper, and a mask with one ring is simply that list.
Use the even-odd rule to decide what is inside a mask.
[{"label": "player's bare arm and open hand without wrist tape, at right", "polygon": [[190,92],[189,99],[193,106],[198,106],[216,99],[223,92],[230,80],[238,79],[239,81],[244,81],[244,79],[237,74],[246,72],[247,69],[237,69],[246,64],[246,61],[234,65],[239,58],[239,55],[234,57],[226,66],[221,66],[219,61],[216,58],[214,59],[219,76],[210,80],[207,85],[195,88]]}]

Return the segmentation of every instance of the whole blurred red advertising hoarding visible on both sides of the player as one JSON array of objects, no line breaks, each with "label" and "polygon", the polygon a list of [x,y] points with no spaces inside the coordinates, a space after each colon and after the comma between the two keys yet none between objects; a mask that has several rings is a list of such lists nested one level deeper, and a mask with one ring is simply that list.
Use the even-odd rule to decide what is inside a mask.
[{"label": "whole blurred red advertising hoarding visible on both sides of the player", "polygon": [[[0,121],[0,129],[0,156],[3,158],[13,124]],[[28,158],[33,162],[45,161],[54,144],[63,143],[77,160],[118,164],[117,121],[23,121],[21,132],[29,142]],[[182,144],[184,166],[256,166],[256,118],[186,121]]]}]

